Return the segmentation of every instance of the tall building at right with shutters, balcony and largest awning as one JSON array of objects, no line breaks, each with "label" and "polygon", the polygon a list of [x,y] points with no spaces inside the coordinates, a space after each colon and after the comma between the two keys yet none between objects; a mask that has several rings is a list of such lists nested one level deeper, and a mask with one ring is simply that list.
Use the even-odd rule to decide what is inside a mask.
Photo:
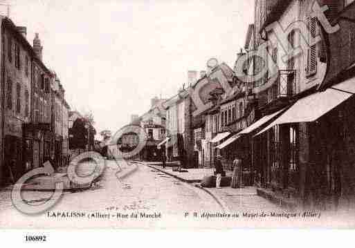
[{"label": "tall building at right with shutters, balcony and largest awning", "polygon": [[[326,19],[312,14],[315,4],[327,5]],[[354,147],[352,17],[354,1],[255,1],[255,46],[271,57],[268,68],[276,65],[254,68],[263,75],[252,89],[262,118],[249,128],[261,195],[271,189],[318,209],[354,195],[355,174],[344,165]]]}]

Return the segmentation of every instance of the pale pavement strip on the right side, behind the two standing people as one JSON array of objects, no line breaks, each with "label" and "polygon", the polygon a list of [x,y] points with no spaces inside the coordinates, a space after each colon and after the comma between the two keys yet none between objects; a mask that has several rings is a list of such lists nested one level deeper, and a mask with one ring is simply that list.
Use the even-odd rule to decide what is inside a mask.
[{"label": "pale pavement strip on the right side, behind the two standing people", "polygon": [[[201,180],[206,176],[206,175],[213,175],[215,169],[212,168],[203,168],[203,169],[183,169],[184,171],[187,172],[179,172],[179,171],[172,171],[172,167],[166,167],[163,169],[161,166],[161,163],[159,162],[150,162],[145,164],[152,169],[156,169],[158,171],[161,171],[163,173],[166,173],[167,175],[171,175],[172,177],[179,179],[183,182],[201,182]],[[231,176],[232,171],[226,171],[226,176]]]}]

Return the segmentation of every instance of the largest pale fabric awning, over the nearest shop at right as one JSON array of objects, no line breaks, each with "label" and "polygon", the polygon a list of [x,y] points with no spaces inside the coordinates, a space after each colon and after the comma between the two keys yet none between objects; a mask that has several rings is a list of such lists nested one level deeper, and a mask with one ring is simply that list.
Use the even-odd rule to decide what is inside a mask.
[{"label": "largest pale fabric awning, over the nearest shop at right", "polygon": [[352,78],[327,88],[325,91],[299,99],[285,113],[256,135],[264,133],[275,125],[314,122],[354,94],[355,78]]}]

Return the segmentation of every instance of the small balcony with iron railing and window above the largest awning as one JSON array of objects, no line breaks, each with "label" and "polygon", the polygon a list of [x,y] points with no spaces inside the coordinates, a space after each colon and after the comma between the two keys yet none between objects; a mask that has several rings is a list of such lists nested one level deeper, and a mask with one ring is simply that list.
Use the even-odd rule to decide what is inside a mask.
[{"label": "small balcony with iron railing and window above the largest awning", "polygon": [[295,95],[295,70],[279,70],[275,83],[268,89],[268,102]]}]

